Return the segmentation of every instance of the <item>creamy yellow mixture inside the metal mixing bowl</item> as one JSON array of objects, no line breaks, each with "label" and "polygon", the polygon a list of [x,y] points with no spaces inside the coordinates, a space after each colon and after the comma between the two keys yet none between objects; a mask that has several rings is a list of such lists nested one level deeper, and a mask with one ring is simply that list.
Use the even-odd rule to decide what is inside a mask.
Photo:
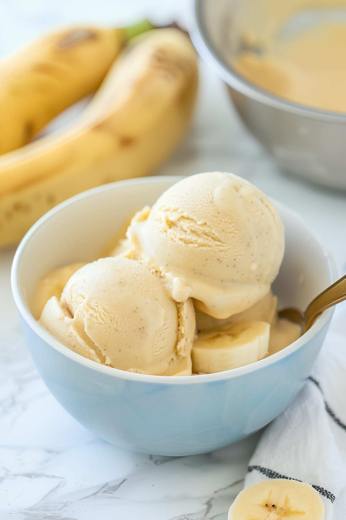
[{"label": "creamy yellow mixture inside the metal mixing bowl", "polygon": [[286,101],[346,112],[346,2],[264,0],[237,11],[242,77]]}]

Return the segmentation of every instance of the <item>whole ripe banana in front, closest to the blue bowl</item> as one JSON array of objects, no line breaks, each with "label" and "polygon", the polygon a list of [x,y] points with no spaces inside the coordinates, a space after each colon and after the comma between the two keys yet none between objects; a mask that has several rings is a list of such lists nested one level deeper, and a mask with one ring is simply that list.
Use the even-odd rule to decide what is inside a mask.
[{"label": "whole ripe banana in front, closest to the blue bowl", "polygon": [[153,172],[186,131],[197,83],[181,31],[132,38],[75,122],[0,157],[0,246],[80,191]]}]

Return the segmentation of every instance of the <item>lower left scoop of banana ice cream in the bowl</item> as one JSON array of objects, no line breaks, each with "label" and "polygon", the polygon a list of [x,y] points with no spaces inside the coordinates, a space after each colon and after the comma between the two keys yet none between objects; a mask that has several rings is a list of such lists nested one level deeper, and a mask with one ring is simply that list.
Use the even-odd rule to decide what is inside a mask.
[{"label": "lower left scoop of banana ice cream in the bowl", "polygon": [[78,354],[121,370],[190,375],[195,311],[142,261],[100,258],[46,303],[39,323]]}]

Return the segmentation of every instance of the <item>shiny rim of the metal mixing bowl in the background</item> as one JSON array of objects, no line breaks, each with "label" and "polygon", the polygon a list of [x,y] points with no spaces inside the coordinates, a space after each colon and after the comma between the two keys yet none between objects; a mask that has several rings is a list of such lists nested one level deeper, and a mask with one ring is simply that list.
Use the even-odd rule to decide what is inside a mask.
[{"label": "shiny rim of the metal mixing bowl in the background", "polygon": [[233,70],[214,47],[209,38],[207,24],[203,19],[201,0],[190,0],[190,7],[186,14],[186,24],[191,41],[203,61],[205,61],[227,85],[237,90],[240,94],[269,107],[301,115],[309,119],[346,124],[346,113],[319,110],[306,105],[300,105],[299,103],[286,101],[284,98],[274,96],[265,89],[257,87],[254,83],[245,80],[243,76]]}]

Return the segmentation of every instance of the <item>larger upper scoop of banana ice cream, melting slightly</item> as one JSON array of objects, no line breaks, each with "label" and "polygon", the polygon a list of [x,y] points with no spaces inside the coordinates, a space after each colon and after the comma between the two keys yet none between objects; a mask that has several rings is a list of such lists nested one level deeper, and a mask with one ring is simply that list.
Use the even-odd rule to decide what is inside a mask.
[{"label": "larger upper scoop of banana ice cream, melting slightly", "polygon": [[174,184],[127,236],[165,276],[174,300],[192,297],[217,319],[241,313],[269,292],[285,244],[281,219],[265,194],[222,172]]}]

